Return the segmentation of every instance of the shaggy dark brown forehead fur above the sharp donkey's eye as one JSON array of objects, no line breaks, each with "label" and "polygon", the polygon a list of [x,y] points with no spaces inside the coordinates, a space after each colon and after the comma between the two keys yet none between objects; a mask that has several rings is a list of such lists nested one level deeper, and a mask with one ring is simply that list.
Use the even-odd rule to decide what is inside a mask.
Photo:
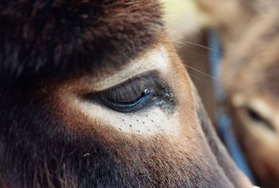
[{"label": "shaggy dark brown forehead fur above the sharp donkey's eye", "polygon": [[1,76],[63,75],[118,67],[162,30],[156,0],[3,1]]}]

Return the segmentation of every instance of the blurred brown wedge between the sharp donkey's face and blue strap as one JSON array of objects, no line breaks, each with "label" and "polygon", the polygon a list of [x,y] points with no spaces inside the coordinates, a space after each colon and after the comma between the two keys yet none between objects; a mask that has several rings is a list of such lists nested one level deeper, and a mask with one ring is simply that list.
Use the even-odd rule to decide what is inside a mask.
[{"label": "blurred brown wedge between the sharp donkey's face and blue strap", "polygon": [[[216,101],[213,96],[213,82],[210,78],[209,55],[206,48],[201,48],[190,43],[197,43],[206,46],[206,30],[198,34],[185,36],[178,45],[178,54],[183,64],[185,64],[190,78],[193,80],[199,96],[202,99],[206,113],[211,122],[215,122]],[[186,41],[186,43],[184,43]],[[190,42],[190,43],[188,43]],[[198,71],[197,71],[198,70]],[[202,72],[202,73],[201,73]],[[206,73],[208,75],[204,75]]]}]

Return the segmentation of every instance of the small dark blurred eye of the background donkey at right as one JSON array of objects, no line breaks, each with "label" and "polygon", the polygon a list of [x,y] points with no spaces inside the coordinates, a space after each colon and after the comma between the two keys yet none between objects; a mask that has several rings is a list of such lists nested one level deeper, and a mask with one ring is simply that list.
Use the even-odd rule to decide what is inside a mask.
[{"label": "small dark blurred eye of the background donkey at right", "polygon": [[255,111],[249,107],[246,107],[245,110],[246,110],[246,114],[247,114],[248,118],[252,122],[257,123],[257,124],[262,124],[264,126],[267,126],[271,130],[275,130],[273,125],[269,122],[269,120],[266,120],[266,118],[262,117],[262,115],[257,113],[257,111]]}]

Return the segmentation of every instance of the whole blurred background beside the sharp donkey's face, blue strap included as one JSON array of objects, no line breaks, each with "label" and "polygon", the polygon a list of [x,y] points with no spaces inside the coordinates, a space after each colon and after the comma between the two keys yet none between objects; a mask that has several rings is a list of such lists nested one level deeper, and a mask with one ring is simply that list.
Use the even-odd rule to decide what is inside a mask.
[{"label": "whole blurred background beside the sharp donkey's face, blue strap included", "polygon": [[243,173],[279,187],[279,1],[161,0],[167,32]]}]

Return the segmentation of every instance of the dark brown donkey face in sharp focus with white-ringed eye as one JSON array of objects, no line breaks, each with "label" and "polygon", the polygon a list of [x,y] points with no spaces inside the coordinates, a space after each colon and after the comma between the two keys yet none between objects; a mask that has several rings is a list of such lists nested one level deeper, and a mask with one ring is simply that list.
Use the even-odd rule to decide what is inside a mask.
[{"label": "dark brown donkey face in sharp focus with white-ringed eye", "polygon": [[4,1],[0,187],[251,187],[157,1]]}]

